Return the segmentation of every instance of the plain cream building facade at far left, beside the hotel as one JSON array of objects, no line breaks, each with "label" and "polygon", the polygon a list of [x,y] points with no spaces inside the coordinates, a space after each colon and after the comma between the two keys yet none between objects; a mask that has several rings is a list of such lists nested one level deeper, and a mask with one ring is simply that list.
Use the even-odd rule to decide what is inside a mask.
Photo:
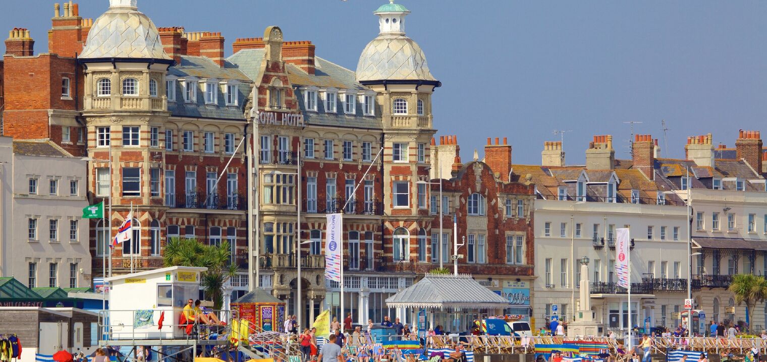
[{"label": "plain cream building facade at far left, beside the hotel", "polygon": [[90,287],[85,161],[46,141],[17,142],[59,155],[14,154],[11,137],[0,137],[2,276],[30,287]]}]

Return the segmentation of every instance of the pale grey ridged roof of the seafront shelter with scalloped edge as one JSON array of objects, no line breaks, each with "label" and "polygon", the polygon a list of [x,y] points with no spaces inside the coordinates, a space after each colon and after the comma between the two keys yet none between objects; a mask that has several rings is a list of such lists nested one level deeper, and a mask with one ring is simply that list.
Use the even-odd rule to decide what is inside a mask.
[{"label": "pale grey ridged roof of the seafront shelter with scalloped edge", "polygon": [[471,275],[430,275],[386,300],[389,308],[508,308],[509,301]]}]

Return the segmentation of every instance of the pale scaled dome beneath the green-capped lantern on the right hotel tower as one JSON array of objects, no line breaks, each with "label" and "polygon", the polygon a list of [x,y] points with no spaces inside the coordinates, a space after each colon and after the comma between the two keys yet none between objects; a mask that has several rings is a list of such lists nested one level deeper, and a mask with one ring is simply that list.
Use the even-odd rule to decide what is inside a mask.
[{"label": "pale scaled dome beneath the green-capped lantern on the right hotel tower", "polygon": [[357,63],[357,81],[436,81],[418,43],[405,35],[379,35]]}]

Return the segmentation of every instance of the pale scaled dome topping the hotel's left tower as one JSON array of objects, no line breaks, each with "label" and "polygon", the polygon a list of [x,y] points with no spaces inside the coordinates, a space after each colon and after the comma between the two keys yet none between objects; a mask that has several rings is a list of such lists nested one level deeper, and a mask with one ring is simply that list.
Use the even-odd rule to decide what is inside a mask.
[{"label": "pale scaled dome topping the hotel's left tower", "polygon": [[152,20],[137,10],[136,0],[110,0],[109,10],[88,31],[80,58],[171,60]]}]

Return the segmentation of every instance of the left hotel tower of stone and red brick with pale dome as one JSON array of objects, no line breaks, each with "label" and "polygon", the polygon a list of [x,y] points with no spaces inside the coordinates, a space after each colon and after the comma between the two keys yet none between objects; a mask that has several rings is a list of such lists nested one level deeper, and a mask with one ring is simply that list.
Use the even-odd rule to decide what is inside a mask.
[{"label": "left hotel tower of stone and red brick with pale dome", "polygon": [[[163,51],[153,22],[138,11],[137,0],[110,0],[107,12],[94,21],[79,61],[91,159],[88,189],[95,202],[103,199],[111,210],[107,225],[112,229],[105,235],[115,235],[133,209],[137,240],[118,245],[113,253],[118,260],[110,265],[117,273],[137,270],[140,256],[149,255],[146,230],[159,217],[148,206],[162,205],[158,171],[165,157],[159,130],[170,116],[165,77],[173,58]],[[99,232],[100,222],[92,225]]]}]

